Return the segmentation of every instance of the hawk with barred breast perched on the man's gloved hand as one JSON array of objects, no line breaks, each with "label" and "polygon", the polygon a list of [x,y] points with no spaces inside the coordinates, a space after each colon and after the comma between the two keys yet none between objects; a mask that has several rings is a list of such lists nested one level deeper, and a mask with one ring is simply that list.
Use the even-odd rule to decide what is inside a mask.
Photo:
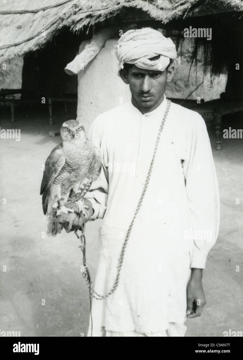
[{"label": "hawk with barred breast perched on the man's gloved hand", "polygon": [[[102,163],[99,150],[87,139],[84,127],[78,120],[65,121],[60,134],[62,142],[46,159],[40,192],[43,212],[47,214],[46,233],[52,236],[63,228],[56,216],[61,212],[73,212],[65,207],[70,190],[80,193],[82,198],[92,181],[100,175]],[[60,209],[56,211],[58,204]],[[82,202],[78,204],[79,211],[83,211]]]}]

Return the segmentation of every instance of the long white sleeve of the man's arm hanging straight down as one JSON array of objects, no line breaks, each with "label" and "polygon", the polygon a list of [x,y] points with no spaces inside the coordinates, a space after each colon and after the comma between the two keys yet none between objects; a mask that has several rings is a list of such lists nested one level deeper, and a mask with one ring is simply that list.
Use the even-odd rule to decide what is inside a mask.
[{"label": "long white sleeve of the man's arm hanging straight down", "polygon": [[219,232],[219,188],[210,140],[203,118],[195,115],[187,137],[183,172],[189,211],[189,233],[193,239],[191,268],[204,269],[208,252]]}]

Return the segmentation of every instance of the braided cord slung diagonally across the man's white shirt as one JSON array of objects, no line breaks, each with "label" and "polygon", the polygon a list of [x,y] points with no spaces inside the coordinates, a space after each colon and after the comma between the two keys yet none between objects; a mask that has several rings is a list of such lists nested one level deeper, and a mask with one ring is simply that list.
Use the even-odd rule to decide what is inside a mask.
[{"label": "braided cord slung diagonally across the man's white shirt", "polygon": [[83,273],[83,277],[84,279],[86,280],[87,284],[88,284],[88,288],[90,289],[91,291],[91,295],[93,296],[93,298],[95,298],[96,300],[104,300],[106,299],[108,296],[110,296],[111,294],[114,293],[114,291],[116,290],[116,288],[118,287],[118,283],[119,283],[119,278],[120,278],[120,271],[121,271],[121,268],[122,268],[122,264],[123,264],[123,258],[124,258],[124,254],[125,254],[125,249],[127,247],[127,243],[128,243],[128,240],[129,240],[129,237],[130,237],[130,234],[131,234],[131,231],[132,231],[132,228],[133,228],[133,224],[136,220],[136,217],[138,215],[138,212],[141,208],[141,205],[142,205],[142,202],[143,202],[143,198],[145,196],[145,193],[146,193],[146,190],[147,190],[147,187],[148,187],[148,183],[150,181],[150,176],[151,176],[151,172],[152,172],[152,168],[153,168],[153,163],[154,163],[154,160],[155,160],[155,155],[156,155],[156,152],[157,152],[157,148],[158,148],[158,145],[159,145],[159,141],[160,141],[160,137],[161,137],[161,132],[163,130],[163,127],[164,127],[164,123],[165,123],[165,120],[166,120],[166,117],[168,115],[168,112],[169,112],[169,109],[170,109],[170,104],[171,104],[171,101],[167,99],[167,106],[166,106],[166,110],[165,110],[165,114],[164,114],[164,117],[162,119],[162,122],[161,122],[161,125],[160,125],[160,129],[159,129],[159,132],[158,132],[158,135],[157,135],[157,140],[156,140],[156,144],[155,144],[155,149],[154,149],[154,152],[153,152],[153,157],[152,157],[152,161],[151,161],[151,164],[150,164],[150,168],[148,170],[148,175],[147,175],[147,178],[146,178],[146,181],[145,181],[145,184],[143,186],[143,191],[142,191],[142,194],[141,194],[141,197],[139,199],[139,202],[138,202],[138,205],[137,205],[137,209],[136,209],[136,212],[133,216],[133,219],[132,219],[132,222],[130,223],[130,226],[128,228],[128,231],[127,231],[127,234],[126,234],[126,237],[125,237],[125,240],[124,240],[124,244],[123,244],[123,247],[122,247],[122,252],[121,252],[121,255],[120,255],[120,258],[119,258],[119,265],[118,265],[118,273],[117,273],[117,276],[116,276],[116,280],[115,280],[115,284],[113,286],[113,288],[111,289],[111,291],[106,294],[106,295],[100,295],[98,294],[95,289],[93,289],[93,287],[91,286],[91,282],[90,282],[90,279],[89,279],[89,276],[86,272]]}]

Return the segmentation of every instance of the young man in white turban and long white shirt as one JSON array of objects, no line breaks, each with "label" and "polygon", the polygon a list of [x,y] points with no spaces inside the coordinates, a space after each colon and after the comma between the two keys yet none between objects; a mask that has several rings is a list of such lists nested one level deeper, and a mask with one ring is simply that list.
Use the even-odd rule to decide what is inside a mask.
[{"label": "young man in white turban and long white shirt", "polygon": [[118,286],[93,299],[92,336],[184,336],[186,317],[200,316],[206,303],[202,270],[219,228],[210,141],[202,117],[164,95],[174,74],[171,39],[151,28],[129,30],[116,55],[132,98],[91,125],[102,171],[85,199],[90,220],[103,218],[94,286],[102,296],[114,286],[162,119],[164,126]]}]

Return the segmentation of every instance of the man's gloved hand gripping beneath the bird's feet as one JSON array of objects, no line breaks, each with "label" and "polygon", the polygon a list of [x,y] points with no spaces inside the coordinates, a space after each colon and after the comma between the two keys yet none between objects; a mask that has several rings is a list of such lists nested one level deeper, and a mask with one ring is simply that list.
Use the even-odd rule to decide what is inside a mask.
[{"label": "man's gloved hand gripping beneath the bird's feet", "polygon": [[[88,199],[83,199],[84,206],[88,206],[88,209],[86,211],[87,218],[90,219],[90,217],[93,215],[93,208],[92,204]],[[78,215],[78,205],[75,202],[67,202],[65,204],[66,207],[72,208],[74,212],[69,212],[68,214],[61,213],[58,216],[58,223],[62,224],[64,229],[67,233],[70,233],[70,231],[81,229],[83,224],[88,221],[85,219],[84,215],[79,216]]]}]

